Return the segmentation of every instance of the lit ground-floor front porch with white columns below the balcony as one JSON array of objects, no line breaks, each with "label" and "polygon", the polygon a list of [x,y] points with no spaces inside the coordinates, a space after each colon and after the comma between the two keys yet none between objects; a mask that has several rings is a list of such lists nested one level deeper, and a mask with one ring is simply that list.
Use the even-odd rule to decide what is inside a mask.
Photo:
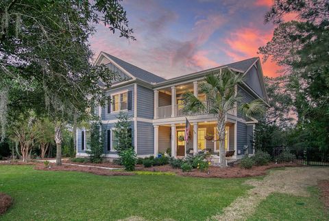
[{"label": "lit ground-floor front porch with white columns below the balcony", "polygon": [[[236,124],[226,122],[225,148],[228,159],[236,159]],[[219,156],[216,122],[191,122],[188,140],[184,141],[185,123],[154,125],[154,155],[171,153],[172,157],[186,157],[197,153]],[[229,156],[230,155],[230,156]]]}]

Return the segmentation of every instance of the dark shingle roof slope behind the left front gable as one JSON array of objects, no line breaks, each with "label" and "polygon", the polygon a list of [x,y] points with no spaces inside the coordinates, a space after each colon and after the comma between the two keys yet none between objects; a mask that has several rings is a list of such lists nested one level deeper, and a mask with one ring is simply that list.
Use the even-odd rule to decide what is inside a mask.
[{"label": "dark shingle roof slope behind the left front gable", "polygon": [[110,59],[112,59],[115,63],[119,64],[119,66],[127,70],[127,72],[129,72],[130,74],[132,74],[134,77],[138,79],[142,79],[143,81],[147,81],[149,83],[159,83],[166,80],[162,77],[154,75],[153,73],[150,73],[147,70],[143,70],[142,68],[138,68],[133,64],[125,62],[119,59],[118,57],[114,57],[113,55],[110,55],[108,53],[106,53],[106,55],[110,57]]}]

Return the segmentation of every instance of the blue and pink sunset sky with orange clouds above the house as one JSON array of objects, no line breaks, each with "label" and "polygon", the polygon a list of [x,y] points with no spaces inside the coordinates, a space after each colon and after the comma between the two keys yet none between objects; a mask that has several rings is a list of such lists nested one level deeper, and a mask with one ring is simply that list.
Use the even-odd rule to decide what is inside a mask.
[{"label": "blue and pink sunset sky with orange clouds above the house", "polygon": [[[123,1],[136,41],[119,38],[102,25],[90,38],[105,51],[169,79],[258,56],[274,26],[264,23],[271,0]],[[264,75],[278,66],[263,64]]]}]

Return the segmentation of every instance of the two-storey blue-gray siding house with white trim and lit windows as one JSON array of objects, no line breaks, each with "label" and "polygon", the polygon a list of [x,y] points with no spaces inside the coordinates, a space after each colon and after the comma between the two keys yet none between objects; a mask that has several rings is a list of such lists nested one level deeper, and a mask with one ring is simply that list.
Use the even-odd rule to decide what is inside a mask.
[{"label": "two-storey blue-gray siding house with white trim and lit windows", "polygon": [[[184,157],[186,153],[196,154],[207,149],[213,153],[219,151],[218,142],[206,140],[212,135],[216,140],[216,120],[212,114],[202,112],[188,116],[182,112],[182,94],[189,90],[207,102],[200,94],[198,83],[213,70],[230,69],[245,75],[245,81],[236,87],[243,96],[243,101],[261,99],[268,105],[267,92],[263,80],[263,71],[258,57],[226,64],[217,68],[202,70],[197,73],[182,75],[172,79],[158,77],[120,60],[113,55],[101,52],[95,64],[105,64],[121,76],[106,90],[108,105],[99,107],[96,114],[102,122],[104,136],[104,157],[118,157],[115,146],[117,140],[113,133],[119,112],[132,116],[132,143],[138,157],[148,157],[171,151],[174,157]],[[178,138],[184,135],[186,118],[191,122],[188,142]],[[247,153],[254,153],[254,127],[258,121],[245,118],[236,109],[226,116],[226,151],[234,153],[233,159]],[[77,156],[87,156],[90,132],[84,128],[77,130]]]}]

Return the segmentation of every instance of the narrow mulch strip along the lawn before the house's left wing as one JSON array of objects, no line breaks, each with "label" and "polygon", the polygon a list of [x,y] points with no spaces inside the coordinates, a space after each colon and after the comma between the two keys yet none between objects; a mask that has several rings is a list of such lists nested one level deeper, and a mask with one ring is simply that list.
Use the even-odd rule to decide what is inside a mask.
[{"label": "narrow mulch strip along the lawn before the house's left wing", "polygon": [[133,172],[108,170],[108,169],[102,169],[102,168],[91,168],[91,167],[85,167],[85,166],[73,166],[73,165],[56,166],[55,164],[50,164],[50,168],[49,168],[49,167],[45,167],[44,164],[36,164],[34,169],[48,170],[48,171],[90,172],[90,173],[101,175],[101,176],[132,176],[132,175],[134,175]]}]

